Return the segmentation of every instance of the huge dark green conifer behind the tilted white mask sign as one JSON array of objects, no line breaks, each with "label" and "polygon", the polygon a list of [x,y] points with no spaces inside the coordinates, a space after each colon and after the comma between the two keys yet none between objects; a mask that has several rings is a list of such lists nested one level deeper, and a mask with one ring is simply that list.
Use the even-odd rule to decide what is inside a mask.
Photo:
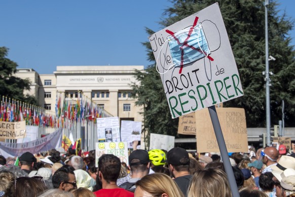
[{"label": "huge dark green conifer behind the tilted white mask sign", "polygon": [[[167,27],[212,4],[214,0],[174,0],[173,6],[165,10],[159,24]],[[225,103],[225,107],[240,107],[246,112],[248,127],[265,126],[265,7],[264,1],[217,1],[228,31],[229,40],[239,70],[244,96]],[[270,1],[268,6],[269,53],[276,57],[270,62],[271,76],[271,121],[277,124],[281,116],[281,101],[285,102],[285,125],[294,126],[295,73],[294,49],[290,46],[288,30],[293,20],[285,14],[278,16],[278,4]],[[146,27],[148,35],[154,33]],[[146,73],[137,72],[141,82],[134,85],[137,105],[144,107],[145,128],[152,133],[175,135],[177,119],[172,119],[162,82],[155,69],[155,58],[149,42],[142,43],[152,62]]]}]

